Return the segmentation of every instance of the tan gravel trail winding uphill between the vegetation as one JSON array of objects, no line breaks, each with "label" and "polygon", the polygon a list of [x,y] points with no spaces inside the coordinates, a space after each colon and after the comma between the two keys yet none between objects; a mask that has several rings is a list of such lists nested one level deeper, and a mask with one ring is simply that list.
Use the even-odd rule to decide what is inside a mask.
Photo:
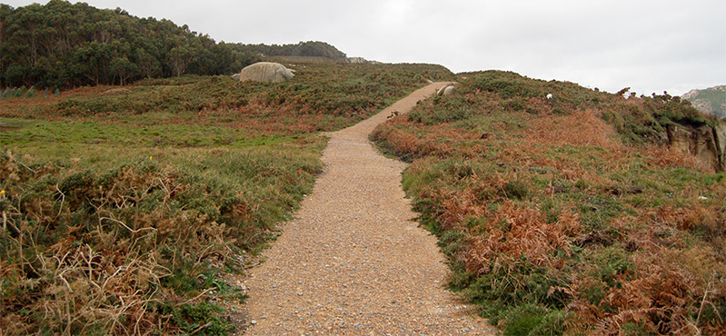
[{"label": "tan gravel trail winding uphill between the vegetation", "polygon": [[253,321],[246,335],[494,334],[443,289],[448,270],[436,238],[413,222],[404,199],[405,164],[368,141],[393,111],[407,113],[443,85],[326,134],[325,173],[244,283]]}]

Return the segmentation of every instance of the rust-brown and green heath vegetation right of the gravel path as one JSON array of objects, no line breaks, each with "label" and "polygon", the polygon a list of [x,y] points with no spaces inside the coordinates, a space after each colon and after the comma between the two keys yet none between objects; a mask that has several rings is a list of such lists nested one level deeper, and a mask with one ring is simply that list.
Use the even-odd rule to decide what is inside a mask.
[{"label": "rust-brown and green heath vegetation right of the gravel path", "polygon": [[715,119],[668,94],[464,75],[372,135],[411,162],[454,291],[505,335],[726,331],[726,175],[663,146],[669,124]]}]

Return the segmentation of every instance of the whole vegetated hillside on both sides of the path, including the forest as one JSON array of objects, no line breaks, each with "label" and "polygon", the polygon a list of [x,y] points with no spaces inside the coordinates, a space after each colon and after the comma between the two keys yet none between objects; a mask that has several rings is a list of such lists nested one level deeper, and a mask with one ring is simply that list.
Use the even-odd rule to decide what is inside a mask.
[{"label": "whole vegetated hillside on both sides of the path, including the forest", "polygon": [[[230,78],[263,57],[295,76]],[[430,80],[458,83],[371,139],[410,163],[448,288],[504,335],[726,334],[726,124],[696,110],[723,86],[625,98],[348,62],[120,8],[0,5],[0,335],[239,331],[233,277],[312,192],[319,135]]]}]

